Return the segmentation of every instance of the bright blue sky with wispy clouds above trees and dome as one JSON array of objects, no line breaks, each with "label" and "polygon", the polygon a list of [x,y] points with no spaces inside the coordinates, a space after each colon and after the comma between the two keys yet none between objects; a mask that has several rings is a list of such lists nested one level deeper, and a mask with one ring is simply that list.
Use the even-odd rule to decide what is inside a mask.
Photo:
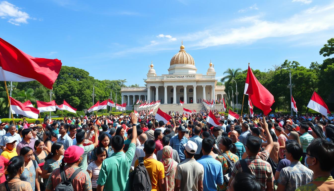
[{"label": "bright blue sky with wispy clouds above trees and dome", "polygon": [[144,85],[153,60],[168,74],[181,40],[205,74],[227,68],[264,71],[285,59],[325,59],[334,37],[334,1],[1,1],[0,37],[25,53],[57,58],[96,79]]}]

